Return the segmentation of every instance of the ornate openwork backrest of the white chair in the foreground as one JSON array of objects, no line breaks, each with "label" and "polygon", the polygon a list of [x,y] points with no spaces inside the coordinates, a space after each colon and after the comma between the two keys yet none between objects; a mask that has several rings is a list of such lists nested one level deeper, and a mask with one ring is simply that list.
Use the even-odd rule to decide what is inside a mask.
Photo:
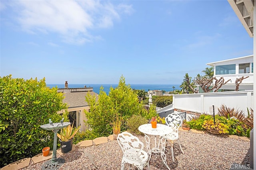
[{"label": "ornate openwork backrest of the white chair in the foreground", "polygon": [[138,137],[128,132],[123,132],[118,134],[117,141],[126,159],[141,162],[141,158],[143,158],[143,152],[141,151],[144,144],[138,139]]}]

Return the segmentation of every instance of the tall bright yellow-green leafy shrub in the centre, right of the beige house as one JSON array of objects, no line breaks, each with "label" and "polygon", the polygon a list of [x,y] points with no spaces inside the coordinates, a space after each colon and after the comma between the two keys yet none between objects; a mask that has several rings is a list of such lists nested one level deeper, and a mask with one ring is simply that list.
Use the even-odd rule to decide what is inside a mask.
[{"label": "tall bright yellow-green leafy shrub in the centre, right of the beige house", "polygon": [[[156,110],[148,113],[144,109],[142,102],[138,101],[137,93],[132,90],[130,85],[126,86],[123,76],[115,89],[110,87],[109,95],[101,87],[98,101],[96,101],[96,96],[90,94],[86,96],[86,101],[90,105],[90,111],[84,111],[88,119],[86,124],[90,125],[92,133],[98,137],[113,134],[110,124],[115,119],[116,113],[118,116],[122,116],[124,122],[132,115],[142,115],[146,119],[156,115]],[[123,123],[121,131],[126,129],[126,124]]]}]

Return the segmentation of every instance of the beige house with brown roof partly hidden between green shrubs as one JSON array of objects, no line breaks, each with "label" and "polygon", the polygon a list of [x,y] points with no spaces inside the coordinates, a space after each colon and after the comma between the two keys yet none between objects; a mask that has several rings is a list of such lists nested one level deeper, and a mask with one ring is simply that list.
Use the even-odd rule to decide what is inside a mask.
[{"label": "beige house with brown roof partly hidden between green shrubs", "polygon": [[93,88],[59,88],[57,90],[60,93],[63,93],[64,100],[63,102],[68,106],[68,117],[70,122],[74,121],[74,127],[80,126],[80,131],[84,131],[86,127],[84,121],[87,121],[84,110],[90,111],[89,104],[85,101],[85,96],[90,93],[91,95],[96,96],[98,100],[98,94],[93,92]]}]

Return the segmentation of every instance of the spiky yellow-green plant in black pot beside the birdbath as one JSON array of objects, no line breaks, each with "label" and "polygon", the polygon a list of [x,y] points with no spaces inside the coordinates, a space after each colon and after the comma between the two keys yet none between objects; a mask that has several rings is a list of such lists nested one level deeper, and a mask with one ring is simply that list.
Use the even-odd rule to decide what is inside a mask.
[{"label": "spiky yellow-green plant in black pot beside the birdbath", "polygon": [[60,134],[57,133],[58,138],[60,138],[60,146],[61,146],[60,148],[62,153],[67,153],[70,150],[72,150],[73,137],[76,135],[76,133],[79,131],[79,128],[80,128],[78,127],[72,133],[73,125],[74,125],[74,121],[72,123],[72,126],[68,125],[67,127],[64,127],[60,130]]}]

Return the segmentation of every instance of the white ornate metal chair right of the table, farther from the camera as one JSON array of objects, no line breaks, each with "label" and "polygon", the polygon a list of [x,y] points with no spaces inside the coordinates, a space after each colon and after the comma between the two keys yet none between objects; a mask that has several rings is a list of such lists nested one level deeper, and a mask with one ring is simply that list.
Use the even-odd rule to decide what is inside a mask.
[{"label": "white ornate metal chair right of the table, farther from the camera", "polygon": [[[180,145],[180,140],[179,140],[179,134],[178,134],[178,129],[182,125],[182,119],[180,115],[177,113],[171,113],[165,118],[166,124],[170,127],[172,127],[172,131],[165,135],[167,141],[170,141],[171,144],[171,149],[172,149],[172,162],[174,161],[174,154],[173,154],[173,147],[174,147],[174,141],[177,140],[179,145]],[[184,154],[181,145],[180,145],[180,150],[182,154]]]}]

